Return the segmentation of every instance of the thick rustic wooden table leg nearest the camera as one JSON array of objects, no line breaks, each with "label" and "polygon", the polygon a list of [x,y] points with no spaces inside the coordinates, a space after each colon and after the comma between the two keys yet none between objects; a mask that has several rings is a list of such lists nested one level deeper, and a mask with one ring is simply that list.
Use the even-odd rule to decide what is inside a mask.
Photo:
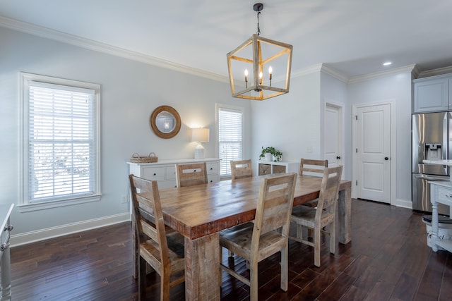
[{"label": "thick rustic wooden table leg nearest the camera", "polygon": [[219,264],[218,233],[196,240],[185,238],[186,300],[220,300]]}]

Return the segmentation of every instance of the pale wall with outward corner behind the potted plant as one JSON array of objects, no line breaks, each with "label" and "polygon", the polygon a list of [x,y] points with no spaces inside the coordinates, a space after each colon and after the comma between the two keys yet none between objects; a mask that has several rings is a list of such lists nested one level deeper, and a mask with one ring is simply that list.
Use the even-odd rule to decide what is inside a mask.
[{"label": "pale wall with outward corner behind the potted plant", "polygon": [[[292,77],[290,92],[275,99],[251,104],[253,125],[253,159],[261,147],[273,146],[283,152],[283,161],[300,158],[323,159],[323,113],[326,102],[344,106],[351,115],[345,82],[323,73],[321,66],[302,76]],[[348,120],[347,118],[345,118]],[[344,128],[345,153],[350,154],[351,128]],[[308,152],[308,148],[312,152]],[[344,178],[351,179],[351,156],[346,155]],[[255,167],[256,168],[256,167]]]}]

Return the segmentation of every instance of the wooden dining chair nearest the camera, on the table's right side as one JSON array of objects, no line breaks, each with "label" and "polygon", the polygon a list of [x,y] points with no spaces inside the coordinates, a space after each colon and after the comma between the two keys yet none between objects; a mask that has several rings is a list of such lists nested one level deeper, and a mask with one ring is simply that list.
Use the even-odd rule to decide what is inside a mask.
[{"label": "wooden dining chair nearest the camera, on the table's right side", "polygon": [[[251,301],[258,299],[258,262],[276,252],[281,252],[280,287],[287,290],[287,242],[296,180],[296,173],[262,178],[254,223],[220,231],[220,267],[249,285]],[[222,264],[222,247],[249,262],[249,279]]]}]

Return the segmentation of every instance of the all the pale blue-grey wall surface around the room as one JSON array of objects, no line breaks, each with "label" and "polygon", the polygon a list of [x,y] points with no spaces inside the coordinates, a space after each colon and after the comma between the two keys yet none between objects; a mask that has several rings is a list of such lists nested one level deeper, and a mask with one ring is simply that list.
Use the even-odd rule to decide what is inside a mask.
[{"label": "all the pale blue-grey wall surface around the room", "polygon": [[[206,156],[216,154],[215,103],[244,106],[244,158],[258,159],[261,147],[283,152],[283,161],[322,158],[321,131],[325,102],[345,104],[345,178],[351,180],[352,104],[396,99],[397,193],[410,200],[411,75],[390,74],[346,85],[321,69],[292,76],[290,93],[263,102],[232,99],[227,82],[151,66],[118,56],[35,37],[0,27],[0,204],[18,204],[20,190],[19,72],[37,73],[102,85],[102,200],[11,216],[14,235],[58,229],[64,225],[126,216],[126,160],[155,152],[160,159],[191,158],[195,144],[189,128],[210,128]],[[226,69],[226,66],[225,66]],[[180,133],[169,140],[155,136],[149,116],[162,104],[182,118]],[[252,135],[251,135],[252,134]],[[307,152],[307,147],[312,152]]]}]

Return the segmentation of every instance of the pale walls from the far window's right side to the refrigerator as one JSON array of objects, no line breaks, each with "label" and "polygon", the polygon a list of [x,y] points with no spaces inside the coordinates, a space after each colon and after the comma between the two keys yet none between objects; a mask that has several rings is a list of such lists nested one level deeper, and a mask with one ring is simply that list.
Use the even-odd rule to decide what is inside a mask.
[{"label": "pale walls from the far window's right side to the refrigerator", "polygon": [[[323,158],[323,108],[344,106],[344,178],[352,179],[352,106],[393,100],[396,104],[396,202],[411,202],[411,72],[381,74],[350,84],[321,70],[291,79],[290,93],[251,104],[253,159],[261,147],[283,152],[283,161]],[[312,147],[313,152],[306,152]],[[256,167],[255,167],[256,168]]]}]

